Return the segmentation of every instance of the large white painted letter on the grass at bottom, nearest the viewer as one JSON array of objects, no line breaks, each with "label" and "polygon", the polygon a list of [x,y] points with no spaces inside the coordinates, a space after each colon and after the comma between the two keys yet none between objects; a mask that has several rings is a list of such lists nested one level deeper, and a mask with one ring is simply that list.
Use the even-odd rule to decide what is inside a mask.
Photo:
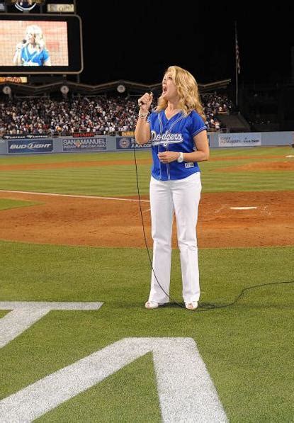
[{"label": "large white painted letter on the grass at bottom, nearest the viewer", "polygon": [[0,421],[32,422],[149,352],[163,422],[227,422],[191,338],[121,339],[1,400]]}]

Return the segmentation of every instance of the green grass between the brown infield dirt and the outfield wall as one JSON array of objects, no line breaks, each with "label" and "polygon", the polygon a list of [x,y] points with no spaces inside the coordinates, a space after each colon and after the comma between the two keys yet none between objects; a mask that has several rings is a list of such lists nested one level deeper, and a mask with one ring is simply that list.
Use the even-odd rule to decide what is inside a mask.
[{"label": "green grass between the brown infield dirt and the outfield wall", "polygon": [[[255,147],[248,149],[211,150],[211,158],[224,158],[200,163],[203,192],[227,191],[276,191],[293,190],[293,172],[291,171],[240,171],[227,173],[222,168],[235,167],[253,162],[293,161],[285,158],[290,154],[290,147]],[[150,152],[137,152],[137,159],[147,159]],[[254,158],[252,158],[254,155]],[[277,155],[283,156],[281,159]],[[248,157],[247,159],[227,159],[227,157]],[[257,156],[257,158],[256,158]],[[260,158],[259,158],[260,157]],[[103,167],[67,167],[64,169],[38,169],[11,171],[2,170],[1,164],[31,164],[52,162],[91,162],[96,160],[134,160],[132,152],[123,153],[84,153],[51,154],[30,157],[0,158],[1,189],[15,191],[38,191],[96,196],[134,196],[137,194],[135,165],[109,165]],[[138,164],[140,193],[149,191],[149,164]]]}]

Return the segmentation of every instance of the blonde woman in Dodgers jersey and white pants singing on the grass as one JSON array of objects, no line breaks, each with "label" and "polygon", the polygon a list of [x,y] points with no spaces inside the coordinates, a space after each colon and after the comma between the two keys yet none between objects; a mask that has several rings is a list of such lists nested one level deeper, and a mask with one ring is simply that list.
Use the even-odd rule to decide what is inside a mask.
[{"label": "blonde woman in Dodgers jersey and white pants singing on the grass", "polygon": [[[196,310],[200,296],[196,224],[201,181],[198,162],[208,160],[209,145],[198,84],[190,72],[169,67],[162,95],[149,114],[152,94],[139,99],[135,138],[152,142],[150,205],[153,239],[151,289],[146,308],[169,302],[171,235],[174,214],[181,256],[183,300]],[[161,288],[162,286],[162,288]]]}]

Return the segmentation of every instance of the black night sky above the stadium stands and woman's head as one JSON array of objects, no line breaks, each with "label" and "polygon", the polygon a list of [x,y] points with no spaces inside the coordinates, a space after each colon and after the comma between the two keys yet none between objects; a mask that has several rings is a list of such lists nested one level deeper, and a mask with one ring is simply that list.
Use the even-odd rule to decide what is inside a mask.
[{"label": "black night sky above the stadium stands and woman's head", "polygon": [[232,6],[203,1],[172,4],[145,0],[130,6],[128,1],[77,0],[84,39],[81,82],[126,79],[156,84],[171,64],[188,69],[203,84],[234,79],[235,21],[239,83],[290,81],[294,5],[268,6],[257,1],[237,1]]}]

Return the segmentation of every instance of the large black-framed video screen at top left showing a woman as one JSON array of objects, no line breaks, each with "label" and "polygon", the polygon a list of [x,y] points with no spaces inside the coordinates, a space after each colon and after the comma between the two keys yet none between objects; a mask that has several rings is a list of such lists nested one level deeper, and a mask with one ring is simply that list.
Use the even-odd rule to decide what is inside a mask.
[{"label": "large black-framed video screen at top left showing a woman", "polygon": [[79,16],[0,16],[1,74],[78,74],[82,69]]}]

